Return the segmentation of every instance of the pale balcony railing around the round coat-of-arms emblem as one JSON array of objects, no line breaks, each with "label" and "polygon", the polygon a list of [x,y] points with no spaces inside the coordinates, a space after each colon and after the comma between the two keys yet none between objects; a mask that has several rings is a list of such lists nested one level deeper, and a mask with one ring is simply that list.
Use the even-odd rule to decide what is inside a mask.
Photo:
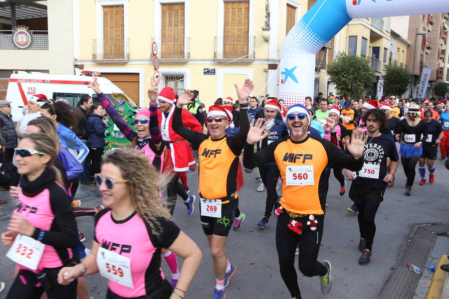
[{"label": "pale balcony railing around the round coat-of-arms emblem", "polygon": [[31,44],[26,48],[17,47],[12,41],[15,30],[0,30],[0,50],[48,50],[48,31],[28,30]]}]

